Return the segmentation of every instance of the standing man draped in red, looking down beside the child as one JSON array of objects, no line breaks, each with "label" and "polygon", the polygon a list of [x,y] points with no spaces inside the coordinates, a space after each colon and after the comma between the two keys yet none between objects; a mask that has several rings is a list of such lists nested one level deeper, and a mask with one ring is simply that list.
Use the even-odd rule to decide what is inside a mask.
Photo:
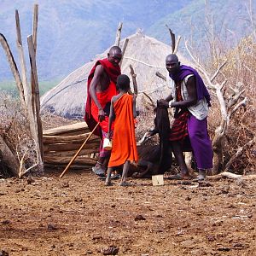
[{"label": "standing man draped in red, looking down beside the child", "polygon": [[101,137],[100,157],[93,167],[93,171],[99,176],[105,176],[110,157],[110,151],[102,148],[103,139],[108,133],[108,116],[110,102],[113,96],[118,94],[116,88],[117,77],[121,73],[119,62],[122,58],[122,50],[118,46],[109,49],[108,58],[96,61],[92,67],[87,83],[87,101],[84,120],[90,131],[100,122],[95,134]]}]

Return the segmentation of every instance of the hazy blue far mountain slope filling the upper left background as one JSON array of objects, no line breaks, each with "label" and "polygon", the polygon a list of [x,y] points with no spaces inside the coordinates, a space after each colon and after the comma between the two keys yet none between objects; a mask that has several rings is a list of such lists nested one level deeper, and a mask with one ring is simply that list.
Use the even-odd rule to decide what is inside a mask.
[{"label": "hazy blue far mountain slope filling the upper left background", "polygon": [[[119,21],[122,36],[138,27],[152,26],[162,16],[183,8],[191,0],[171,3],[166,0],[39,0],[38,73],[52,79],[67,75],[113,44]],[[32,0],[0,2],[0,32],[15,49],[15,9],[19,9],[23,42],[32,30]],[[162,8],[162,7],[165,8]],[[15,54],[16,55],[16,54]],[[9,78],[3,49],[0,50],[0,78]]]}]

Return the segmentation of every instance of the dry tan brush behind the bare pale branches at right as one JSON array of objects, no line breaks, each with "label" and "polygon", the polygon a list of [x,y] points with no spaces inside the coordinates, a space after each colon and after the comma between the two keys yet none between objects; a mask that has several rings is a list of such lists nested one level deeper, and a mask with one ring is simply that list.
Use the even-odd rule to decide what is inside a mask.
[{"label": "dry tan brush behind the bare pale branches at right", "polygon": [[[228,49],[224,55],[216,57],[212,63],[207,63],[209,69],[213,71],[218,67],[218,63],[227,59],[227,65],[218,76],[219,81],[227,79],[227,84],[224,87],[225,98],[228,99],[232,95],[233,84],[242,83],[243,95],[248,99],[246,106],[239,108],[230,120],[229,129],[224,138],[224,164],[230,160],[232,155],[236,154],[237,148],[252,140],[256,133],[255,57],[256,44],[253,41],[253,37],[249,36],[242,38],[235,49]],[[220,123],[220,112],[215,97],[213,97],[209,121],[210,133],[213,135],[214,130]],[[230,167],[230,171],[240,174],[255,172],[255,153],[255,144],[252,147],[245,148],[241,157],[237,158]]]}]

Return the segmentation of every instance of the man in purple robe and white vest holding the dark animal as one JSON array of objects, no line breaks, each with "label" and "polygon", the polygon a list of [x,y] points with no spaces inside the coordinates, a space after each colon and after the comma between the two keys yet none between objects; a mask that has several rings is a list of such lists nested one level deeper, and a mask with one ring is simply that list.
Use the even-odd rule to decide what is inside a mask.
[{"label": "man in purple robe and white vest holding the dark animal", "polygon": [[166,69],[172,79],[172,93],[159,101],[160,108],[175,108],[169,141],[181,169],[178,177],[188,179],[189,171],[183,156],[189,141],[199,170],[199,180],[212,168],[212,143],[207,131],[210,95],[201,76],[192,67],[180,65],[177,55],[166,56]]}]

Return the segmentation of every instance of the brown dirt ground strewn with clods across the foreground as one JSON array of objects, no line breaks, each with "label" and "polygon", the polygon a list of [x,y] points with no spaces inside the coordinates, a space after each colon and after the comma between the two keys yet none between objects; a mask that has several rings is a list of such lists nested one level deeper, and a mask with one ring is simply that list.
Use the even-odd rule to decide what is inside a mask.
[{"label": "brown dirt ground strewn with clods across the foreground", "polygon": [[0,255],[256,255],[252,180],[124,188],[60,173],[0,179]]}]

